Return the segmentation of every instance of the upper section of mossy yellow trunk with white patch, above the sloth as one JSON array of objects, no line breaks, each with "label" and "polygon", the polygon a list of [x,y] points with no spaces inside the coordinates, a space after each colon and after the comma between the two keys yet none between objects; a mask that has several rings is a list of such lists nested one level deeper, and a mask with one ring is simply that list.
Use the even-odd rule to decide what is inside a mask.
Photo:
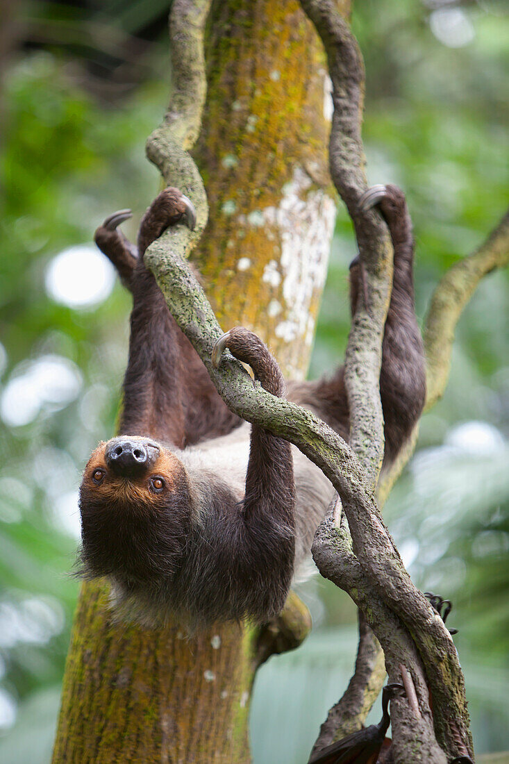
[{"label": "upper section of mossy yellow trunk with white patch, above the sloth", "polygon": [[251,327],[303,378],[336,217],[323,50],[293,0],[220,0],[206,61],[193,154],[209,224],[193,258],[223,328]]}]

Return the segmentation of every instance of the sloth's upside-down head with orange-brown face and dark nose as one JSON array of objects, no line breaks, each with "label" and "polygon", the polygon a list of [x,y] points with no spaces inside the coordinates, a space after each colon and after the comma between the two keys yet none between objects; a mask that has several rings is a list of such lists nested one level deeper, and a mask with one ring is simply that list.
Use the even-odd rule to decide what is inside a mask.
[{"label": "sloth's upside-down head with orange-brown face and dark nose", "polygon": [[86,578],[160,583],[173,575],[191,523],[186,471],[163,445],[122,435],[92,452],[79,488]]}]

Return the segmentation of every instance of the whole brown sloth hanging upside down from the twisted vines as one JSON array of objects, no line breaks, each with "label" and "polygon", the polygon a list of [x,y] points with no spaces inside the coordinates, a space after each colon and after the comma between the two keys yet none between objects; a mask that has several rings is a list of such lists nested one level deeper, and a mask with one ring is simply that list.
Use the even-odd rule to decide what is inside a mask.
[{"label": "whole brown sloth hanging upside down from the twisted vines", "polygon": [[[378,205],[394,245],[394,280],[380,374],[384,468],[423,410],[423,343],[413,299],[413,238],[404,194],[374,186],[359,202]],[[145,626],[177,619],[191,630],[215,622],[265,623],[284,607],[295,571],[334,490],[297,448],[229,411],[206,367],[171,316],[144,252],[171,225],[195,225],[193,205],[167,188],[145,213],[135,247],[115,212],[96,244],[133,296],[121,435],[92,452],[79,489],[81,569],[106,577],[116,616]],[[350,267],[352,314],[363,289]],[[344,367],[316,381],[284,384],[261,340],[242,327],[216,343],[249,364],[274,396],[306,406],[345,440],[349,403]]]}]

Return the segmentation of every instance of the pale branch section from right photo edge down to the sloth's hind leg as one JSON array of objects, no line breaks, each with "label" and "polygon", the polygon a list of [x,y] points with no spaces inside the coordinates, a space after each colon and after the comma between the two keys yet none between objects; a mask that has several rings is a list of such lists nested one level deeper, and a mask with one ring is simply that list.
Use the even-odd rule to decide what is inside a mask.
[{"label": "pale branch section from right photo edge down to the sloth's hind leg", "polygon": [[430,409],[446,388],[452,343],[462,310],[481,278],[509,263],[509,210],[473,254],[453,265],[436,287],[424,329],[427,400]]}]

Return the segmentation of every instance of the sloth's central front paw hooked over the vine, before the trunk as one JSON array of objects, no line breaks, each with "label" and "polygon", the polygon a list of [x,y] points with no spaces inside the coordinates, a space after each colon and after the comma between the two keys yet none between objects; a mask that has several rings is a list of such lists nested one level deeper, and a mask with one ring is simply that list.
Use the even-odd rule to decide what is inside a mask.
[{"label": "sloth's central front paw hooked over the vine, before the trunk", "polygon": [[219,367],[226,348],[239,361],[251,366],[254,378],[260,380],[261,387],[277,397],[283,394],[284,379],[277,361],[254,332],[244,329],[243,326],[234,326],[222,335],[212,348],[212,365],[215,368]]}]

